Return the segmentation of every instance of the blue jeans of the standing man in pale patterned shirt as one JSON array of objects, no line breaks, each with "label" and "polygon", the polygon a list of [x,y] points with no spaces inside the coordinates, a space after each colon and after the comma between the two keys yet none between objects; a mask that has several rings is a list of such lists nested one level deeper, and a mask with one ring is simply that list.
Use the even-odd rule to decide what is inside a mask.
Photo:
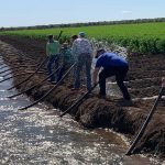
[{"label": "blue jeans of the standing man in pale patterned shirt", "polygon": [[74,87],[75,88],[79,88],[80,87],[80,72],[82,70],[82,66],[86,66],[86,77],[87,77],[87,89],[90,90],[91,89],[91,74],[90,74],[90,69],[91,69],[91,54],[80,54],[77,58],[77,64],[75,67],[75,84]]}]

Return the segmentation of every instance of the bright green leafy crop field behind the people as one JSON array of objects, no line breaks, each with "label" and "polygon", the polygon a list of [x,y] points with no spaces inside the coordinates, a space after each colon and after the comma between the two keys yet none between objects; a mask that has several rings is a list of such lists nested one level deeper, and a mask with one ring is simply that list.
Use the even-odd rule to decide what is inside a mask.
[{"label": "bright green leafy crop field behind the people", "polygon": [[64,32],[61,42],[84,31],[90,38],[117,43],[133,53],[165,54],[165,22],[4,31],[0,34],[46,40],[47,34],[57,36],[59,31]]}]

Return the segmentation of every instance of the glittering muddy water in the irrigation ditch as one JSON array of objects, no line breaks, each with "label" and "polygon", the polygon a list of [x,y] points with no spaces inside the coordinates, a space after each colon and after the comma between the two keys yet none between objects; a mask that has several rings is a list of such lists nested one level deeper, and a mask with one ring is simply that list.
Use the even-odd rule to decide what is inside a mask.
[{"label": "glittering muddy water in the irrigation ditch", "polygon": [[7,90],[11,85],[12,80],[0,84],[0,164],[158,164],[144,156],[125,156],[128,146],[120,135],[110,130],[85,130],[69,116],[59,119],[58,110],[43,103],[18,111],[31,101],[25,96],[8,99],[16,94]]}]

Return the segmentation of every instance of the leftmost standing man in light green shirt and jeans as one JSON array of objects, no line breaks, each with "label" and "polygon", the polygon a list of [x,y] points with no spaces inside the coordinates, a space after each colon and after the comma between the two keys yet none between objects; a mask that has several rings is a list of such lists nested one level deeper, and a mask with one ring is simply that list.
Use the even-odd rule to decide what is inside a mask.
[{"label": "leftmost standing man in light green shirt and jeans", "polygon": [[[53,35],[47,36],[48,41],[46,44],[46,55],[48,56],[48,63],[47,63],[47,70],[48,75],[52,74],[52,65],[55,63],[55,65],[58,65],[57,59],[59,55],[61,45],[58,41],[55,41]],[[51,76],[51,81],[55,81],[54,75]]]}]

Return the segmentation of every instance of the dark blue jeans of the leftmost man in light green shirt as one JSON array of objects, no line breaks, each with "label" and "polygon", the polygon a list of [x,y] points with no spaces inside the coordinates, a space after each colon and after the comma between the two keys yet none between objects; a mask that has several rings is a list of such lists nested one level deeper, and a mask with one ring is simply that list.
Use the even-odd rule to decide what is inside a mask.
[{"label": "dark blue jeans of the leftmost man in light green shirt", "polygon": [[[48,57],[48,62],[47,62],[47,72],[48,72],[48,75],[52,74],[52,65],[55,65],[55,67],[58,67],[58,55],[52,55]],[[52,75],[51,76],[51,81],[54,81],[55,80],[55,76]]]}]

